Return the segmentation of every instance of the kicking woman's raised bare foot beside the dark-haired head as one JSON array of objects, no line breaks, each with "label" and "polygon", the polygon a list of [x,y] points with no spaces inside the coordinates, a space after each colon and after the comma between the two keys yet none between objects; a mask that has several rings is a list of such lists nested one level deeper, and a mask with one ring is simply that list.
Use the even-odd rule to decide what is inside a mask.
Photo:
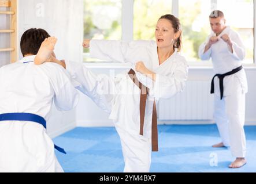
[{"label": "kicking woman's raised bare foot beside the dark-haired head", "polygon": [[43,41],[41,47],[39,48],[38,54],[35,57],[35,64],[39,65],[46,62],[47,59],[51,57],[54,51],[54,46],[57,42],[55,37],[49,37]]}]

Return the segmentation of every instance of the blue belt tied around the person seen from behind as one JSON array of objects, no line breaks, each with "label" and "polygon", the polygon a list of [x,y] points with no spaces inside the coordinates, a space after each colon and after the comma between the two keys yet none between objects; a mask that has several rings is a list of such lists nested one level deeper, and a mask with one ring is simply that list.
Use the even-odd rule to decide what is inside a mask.
[{"label": "blue belt tied around the person seen from behind", "polygon": [[[7,113],[7,114],[0,114],[0,121],[32,121],[37,122],[46,129],[46,121],[43,117],[38,116],[36,114],[30,113]],[[66,154],[63,148],[58,147],[54,144],[54,148],[63,154]]]}]

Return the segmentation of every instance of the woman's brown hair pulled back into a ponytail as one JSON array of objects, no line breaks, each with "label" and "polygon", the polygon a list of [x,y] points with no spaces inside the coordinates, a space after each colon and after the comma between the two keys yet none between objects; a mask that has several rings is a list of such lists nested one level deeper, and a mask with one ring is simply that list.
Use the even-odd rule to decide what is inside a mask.
[{"label": "woman's brown hair pulled back into a ponytail", "polygon": [[[180,25],[180,20],[179,18],[173,16],[172,14],[166,14],[164,16],[161,16],[159,20],[161,19],[166,19],[170,21],[172,24],[172,28],[174,29],[175,33],[177,33],[179,30],[181,30],[181,25]],[[175,44],[173,45],[174,49],[177,48],[178,52],[181,50],[181,45],[182,45],[182,39],[181,39],[181,34],[177,40],[175,40]]]}]

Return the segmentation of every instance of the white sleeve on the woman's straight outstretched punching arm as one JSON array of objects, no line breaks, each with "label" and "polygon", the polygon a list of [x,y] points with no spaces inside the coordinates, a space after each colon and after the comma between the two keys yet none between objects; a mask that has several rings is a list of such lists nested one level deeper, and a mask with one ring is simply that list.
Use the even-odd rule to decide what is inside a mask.
[{"label": "white sleeve on the woman's straight outstretched punching arm", "polygon": [[[150,41],[91,40],[90,55],[102,60],[121,63],[136,63],[139,55]],[[143,53],[141,53],[143,55]]]}]

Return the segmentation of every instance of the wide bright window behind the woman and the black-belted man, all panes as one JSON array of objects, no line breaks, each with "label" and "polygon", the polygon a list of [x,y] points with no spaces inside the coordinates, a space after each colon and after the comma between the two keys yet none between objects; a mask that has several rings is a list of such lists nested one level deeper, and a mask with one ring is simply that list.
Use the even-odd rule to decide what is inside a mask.
[{"label": "wide bright window behind the woman and the black-belted man, all panes", "polygon": [[[244,63],[254,63],[253,0],[84,0],[84,7],[85,39],[154,40],[158,18],[174,14],[183,30],[183,55],[189,62],[199,64],[199,45],[211,33],[209,14],[219,9],[224,12],[227,25],[242,37],[246,46]],[[88,59],[87,49],[84,60],[97,61]]]}]

